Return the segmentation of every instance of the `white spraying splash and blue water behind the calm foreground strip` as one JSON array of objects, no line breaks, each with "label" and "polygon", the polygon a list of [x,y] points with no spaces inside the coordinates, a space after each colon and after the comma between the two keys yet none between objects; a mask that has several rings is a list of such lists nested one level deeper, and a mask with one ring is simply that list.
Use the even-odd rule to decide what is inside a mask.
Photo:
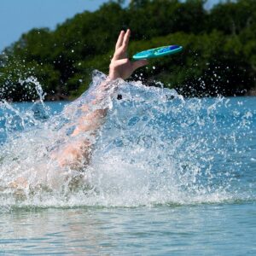
[{"label": "white spraying splash and blue water behind the calm foreground strip", "polygon": [[[223,97],[184,99],[175,90],[122,80],[92,106],[104,79],[95,73],[90,90],[61,113],[49,113],[36,79],[29,82],[38,88],[42,108],[0,103],[3,209],[255,200],[254,180],[243,177],[254,163],[244,137],[255,143],[255,109]],[[73,143],[70,134],[82,115],[102,108],[108,116],[96,136],[77,138],[94,145],[90,165],[59,166],[52,155]]]}]

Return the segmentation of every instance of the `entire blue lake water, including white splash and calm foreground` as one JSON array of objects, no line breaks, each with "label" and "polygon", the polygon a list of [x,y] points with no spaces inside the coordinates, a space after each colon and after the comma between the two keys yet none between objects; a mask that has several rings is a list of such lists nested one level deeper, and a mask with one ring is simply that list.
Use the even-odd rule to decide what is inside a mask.
[{"label": "entire blue lake water, including white splash and calm foreground", "polygon": [[0,103],[0,254],[255,255],[256,97],[119,81],[90,166],[61,170],[100,77],[73,103]]}]

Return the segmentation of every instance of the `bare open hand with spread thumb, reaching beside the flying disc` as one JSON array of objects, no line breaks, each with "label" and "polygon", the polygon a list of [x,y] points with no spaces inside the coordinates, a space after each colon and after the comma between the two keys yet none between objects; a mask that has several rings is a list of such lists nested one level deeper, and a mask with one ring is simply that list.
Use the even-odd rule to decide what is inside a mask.
[{"label": "bare open hand with spread thumb, reaching beside the flying disc", "polygon": [[115,45],[113,59],[109,65],[109,79],[128,79],[131,74],[138,68],[148,64],[147,60],[131,62],[128,59],[127,48],[131,35],[130,29],[126,32],[121,31]]}]

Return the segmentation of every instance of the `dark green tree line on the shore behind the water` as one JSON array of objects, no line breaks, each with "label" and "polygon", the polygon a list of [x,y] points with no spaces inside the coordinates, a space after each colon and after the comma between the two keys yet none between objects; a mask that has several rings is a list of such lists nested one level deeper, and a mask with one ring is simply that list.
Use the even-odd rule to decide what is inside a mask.
[{"label": "dark green tree line on the shore behind the water", "polygon": [[[160,81],[184,96],[240,96],[256,87],[256,1],[237,0],[204,8],[204,0],[109,1],[56,26],[35,28],[0,55],[0,99],[38,97],[30,82],[42,84],[46,98],[79,96],[91,73],[108,73],[119,31],[131,28],[131,55],[178,44],[183,52],[150,61],[131,79]],[[143,75],[141,75],[143,73]]]}]

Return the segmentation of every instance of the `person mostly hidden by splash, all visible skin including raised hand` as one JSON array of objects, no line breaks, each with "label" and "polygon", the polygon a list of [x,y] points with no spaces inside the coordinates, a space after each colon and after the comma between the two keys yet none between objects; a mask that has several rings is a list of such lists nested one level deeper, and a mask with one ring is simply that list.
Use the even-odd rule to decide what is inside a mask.
[{"label": "person mostly hidden by splash, all visible skin including raised hand", "polygon": [[[55,161],[61,169],[67,167],[79,171],[90,164],[94,144],[91,137],[96,137],[96,131],[101,127],[108,113],[108,107],[102,106],[101,102],[104,101],[104,97],[109,96],[109,90],[111,91],[113,86],[116,86],[116,79],[128,79],[137,68],[148,64],[147,60],[129,60],[127,49],[130,36],[130,29],[119,33],[113,58],[109,65],[108,78],[99,84],[95,90],[93,89],[91,92],[93,97],[90,102],[79,105],[82,116],[76,121],[76,124],[73,124],[74,129],[70,139],[67,143],[59,145],[55,150],[49,150],[49,159]],[[77,110],[72,108],[68,111]],[[89,137],[84,136],[84,133]],[[41,175],[43,175],[43,172],[38,173],[39,177]],[[26,188],[29,185],[28,179],[29,177],[18,177],[14,182],[9,183],[9,186],[14,189]],[[76,180],[74,183],[78,184]]]}]

